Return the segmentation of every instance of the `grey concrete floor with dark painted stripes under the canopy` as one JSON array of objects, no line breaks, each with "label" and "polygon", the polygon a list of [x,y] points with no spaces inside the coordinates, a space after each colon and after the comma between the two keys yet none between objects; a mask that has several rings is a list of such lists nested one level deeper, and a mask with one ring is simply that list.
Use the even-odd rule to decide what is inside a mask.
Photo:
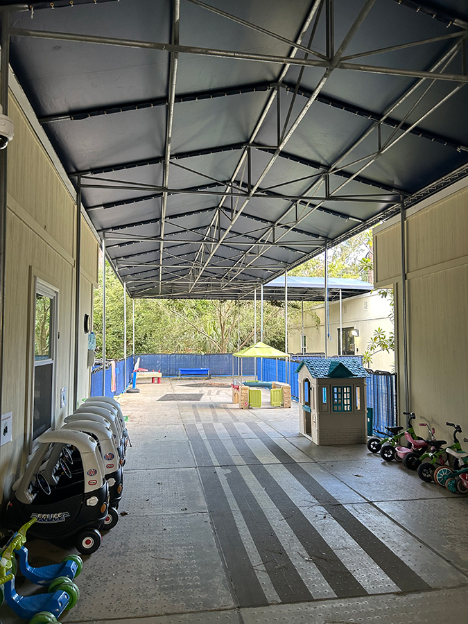
[{"label": "grey concrete floor with dark painted stripes under the canopy", "polygon": [[[364,446],[316,447],[295,403],[239,410],[229,380],[139,388],[121,397],[121,517],[63,623],[467,621],[468,497]],[[31,542],[33,564],[62,555]]]}]

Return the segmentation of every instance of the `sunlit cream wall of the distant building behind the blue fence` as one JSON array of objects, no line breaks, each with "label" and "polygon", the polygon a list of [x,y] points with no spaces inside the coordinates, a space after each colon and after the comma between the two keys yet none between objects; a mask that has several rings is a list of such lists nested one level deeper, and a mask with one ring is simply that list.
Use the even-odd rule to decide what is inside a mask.
[{"label": "sunlit cream wall of the distant building behind the blue fence", "polygon": [[[390,320],[392,309],[390,302],[381,297],[379,293],[358,295],[343,300],[343,327],[353,327],[359,330],[359,336],[354,338],[356,355],[363,355],[371,336],[377,328],[385,331],[386,335],[393,331]],[[312,315],[304,313],[304,333],[306,334],[307,352],[324,352],[325,350],[325,326],[324,305],[315,308],[315,313],[320,318],[320,326],[316,327]],[[340,304],[333,302],[329,306],[330,337],[327,349],[329,356],[338,355],[340,346],[338,343],[338,328],[340,327]],[[288,331],[288,344],[291,353],[301,351],[301,327],[292,327]],[[395,354],[379,352],[372,358],[370,367],[374,370],[392,371],[395,365]]]}]

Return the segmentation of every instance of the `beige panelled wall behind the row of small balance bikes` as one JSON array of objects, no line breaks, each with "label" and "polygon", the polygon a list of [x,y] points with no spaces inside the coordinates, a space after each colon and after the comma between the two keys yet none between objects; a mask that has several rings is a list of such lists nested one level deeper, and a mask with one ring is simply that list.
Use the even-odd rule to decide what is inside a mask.
[{"label": "beige panelled wall behind the row of small balance bikes", "polygon": [[[399,218],[374,230],[376,286],[396,287],[399,414],[404,410]],[[468,437],[468,186],[460,181],[407,211],[409,406],[451,440]],[[403,424],[402,422],[400,424]],[[462,439],[462,437],[460,439]]]}]

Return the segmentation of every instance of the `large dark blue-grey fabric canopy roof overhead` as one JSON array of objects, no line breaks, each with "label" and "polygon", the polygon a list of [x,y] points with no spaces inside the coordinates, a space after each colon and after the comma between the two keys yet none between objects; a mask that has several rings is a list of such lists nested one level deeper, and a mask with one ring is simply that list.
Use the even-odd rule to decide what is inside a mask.
[{"label": "large dark blue-grey fabric canopy roof overhead", "polygon": [[132,297],[251,298],[467,174],[464,0],[21,8],[10,64]]}]

